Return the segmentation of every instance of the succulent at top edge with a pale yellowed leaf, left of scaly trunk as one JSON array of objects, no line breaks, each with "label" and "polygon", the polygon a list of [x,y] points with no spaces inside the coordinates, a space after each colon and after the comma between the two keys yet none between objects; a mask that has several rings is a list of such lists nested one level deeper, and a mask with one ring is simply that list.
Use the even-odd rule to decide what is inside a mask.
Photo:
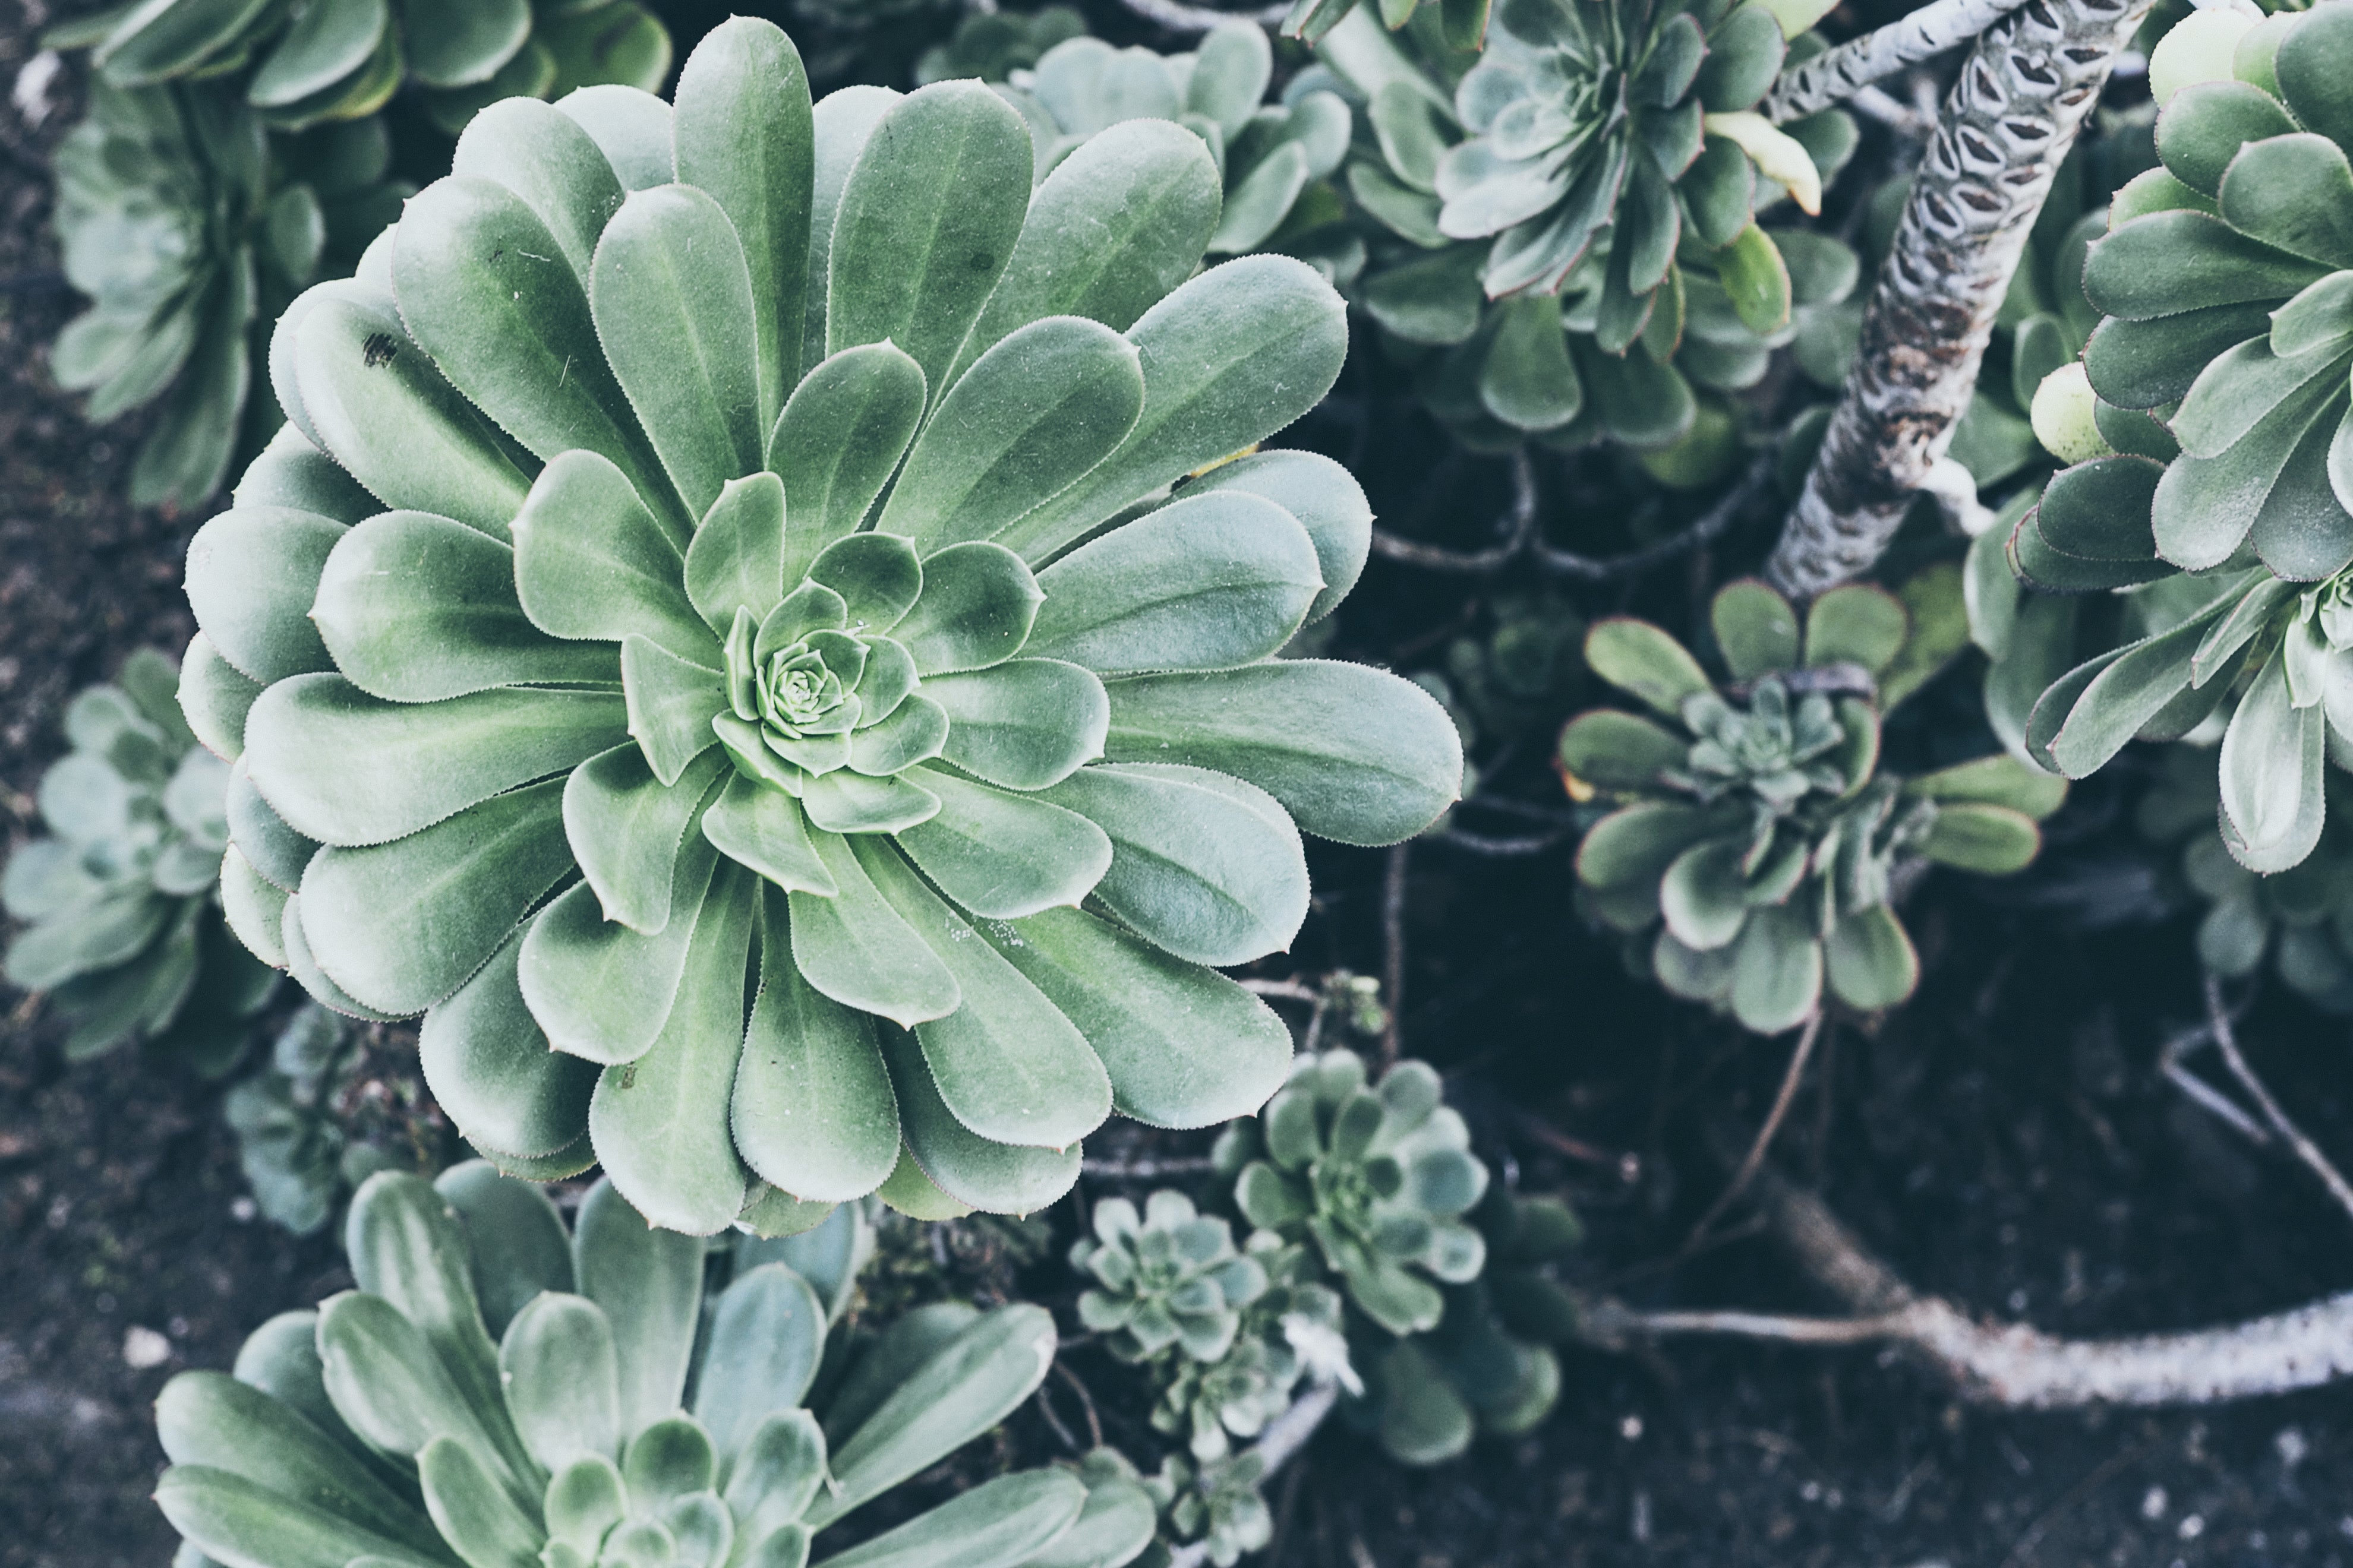
[{"label": "succulent at top edge with a pale yellowed leaf, left of scaly trunk", "polygon": [[[1522,26],[1529,38],[1553,40],[1555,12],[1572,42],[1586,28],[1579,19],[1595,33],[1569,52],[1511,33]],[[1729,139],[1744,136],[1812,200],[1854,150],[1852,120],[1826,110],[1781,132],[1746,108],[1711,118],[1701,103],[1739,75],[1729,66],[1737,52],[1760,49],[1779,63],[1781,24],[1762,5],[1741,5],[1718,21],[1722,49],[1706,54],[1697,12],[1664,9],[1649,21],[1635,12],[1572,12],[1567,0],[1537,0],[1504,12],[1494,45],[1478,56],[1445,56],[1419,24],[1407,33],[1412,52],[1400,49],[1362,16],[1322,45],[1329,68],[1362,99],[1369,127],[1346,174],[1372,244],[1355,301],[1402,355],[1419,355],[1424,402],[1475,449],[1508,449],[1532,435],[1562,449],[1602,437],[1647,451],[1673,447],[1699,418],[1694,383],[1725,393],[1755,386],[1772,350],[1857,284],[1845,242],[1755,223],[1784,186],[1758,186],[1758,160]],[[1673,66],[1689,66],[1689,78],[1678,75],[1673,115],[1664,106],[1607,110],[1614,120],[1577,141],[1569,174],[1593,158],[1605,165],[1577,197],[1586,209],[1579,240],[1555,216],[1560,155],[1499,160],[1494,148],[1499,136],[1513,150],[1532,136],[1577,136],[1577,115],[1598,99],[1617,103],[1628,92],[1621,66],[1609,63],[1619,45],[1659,61],[1657,71],[1678,59],[1675,49],[1701,52]],[[1819,47],[1805,33],[1791,54]],[[1553,103],[1555,94],[1565,99]],[[1680,127],[1673,136],[1682,141],[1654,146],[1659,136],[1633,132],[1638,120]],[[1704,120],[1722,134],[1704,132]],[[1515,212],[1501,202],[1513,190],[1522,205],[1548,190],[1551,200],[1489,237],[1497,230],[1487,223]],[[1640,273],[1631,270],[1635,221],[1645,223]],[[1548,256],[1541,275],[1511,270],[1537,256]]]}]

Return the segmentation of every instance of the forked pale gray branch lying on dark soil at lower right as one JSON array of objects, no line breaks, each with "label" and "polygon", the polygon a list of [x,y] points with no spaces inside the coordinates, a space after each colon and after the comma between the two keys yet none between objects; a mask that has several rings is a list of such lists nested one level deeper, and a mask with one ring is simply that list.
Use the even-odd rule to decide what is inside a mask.
[{"label": "forked pale gray branch lying on dark soil at lower right", "polygon": [[1605,1349],[1675,1333],[1784,1345],[1887,1342],[1941,1373],[1962,1396],[2002,1408],[2205,1406],[2353,1378],[2353,1293],[2191,1333],[2064,1340],[2024,1324],[1979,1324],[1937,1295],[1913,1295],[1824,1208],[1777,1175],[1760,1180],[1774,1229],[1814,1281],[1857,1316],[1769,1312],[1640,1312],[1591,1300],[1579,1335]]}]

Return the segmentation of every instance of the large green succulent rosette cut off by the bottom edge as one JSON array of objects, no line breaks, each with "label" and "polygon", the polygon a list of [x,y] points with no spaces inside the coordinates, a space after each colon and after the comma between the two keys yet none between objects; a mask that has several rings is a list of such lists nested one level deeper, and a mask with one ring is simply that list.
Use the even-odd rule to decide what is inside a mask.
[{"label": "large green succulent rosette cut off by the bottom edge", "polygon": [[[379,1173],[348,1222],[358,1291],[261,1326],[235,1375],[165,1385],[155,1500],[221,1563],[659,1568],[809,1561],[812,1537],[979,1436],[1045,1378],[1038,1307],[932,1307],[805,1408],[826,1309],[781,1262],[704,1300],[704,1241],[607,1182],[574,1234],[466,1164]],[[1113,1568],[1151,1497],[1059,1469],[986,1481],[824,1563]]]}]

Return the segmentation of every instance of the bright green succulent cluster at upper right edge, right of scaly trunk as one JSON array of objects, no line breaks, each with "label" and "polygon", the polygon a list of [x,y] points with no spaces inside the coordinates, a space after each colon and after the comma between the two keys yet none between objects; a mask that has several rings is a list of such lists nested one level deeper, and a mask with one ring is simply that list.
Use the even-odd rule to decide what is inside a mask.
[{"label": "bright green succulent cluster at upper right edge, right of scaly trunk", "polygon": [[2148,604],[2120,646],[2059,646],[2026,743],[2082,778],[2228,710],[2224,842],[2268,875],[2320,842],[2353,738],[2353,14],[2200,14],[2158,47],[2162,167],[2118,190],[2082,273],[2104,315],[2068,421],[2082,461],[2009,538],[2038,588]]}]

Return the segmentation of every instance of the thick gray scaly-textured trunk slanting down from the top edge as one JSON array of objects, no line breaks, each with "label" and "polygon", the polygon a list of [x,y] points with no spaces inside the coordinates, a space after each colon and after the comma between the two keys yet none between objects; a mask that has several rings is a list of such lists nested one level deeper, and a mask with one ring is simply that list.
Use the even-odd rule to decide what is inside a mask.
[{"label": "thick gray scaly-textured trunk slanting down from the top edge", "polygon": [[2059,160],[2151,0],[2028,0],[1960,68],[1864,310],[1805,494],[1765,564],[1812,597],[1887,548],[1953,440]]}]

